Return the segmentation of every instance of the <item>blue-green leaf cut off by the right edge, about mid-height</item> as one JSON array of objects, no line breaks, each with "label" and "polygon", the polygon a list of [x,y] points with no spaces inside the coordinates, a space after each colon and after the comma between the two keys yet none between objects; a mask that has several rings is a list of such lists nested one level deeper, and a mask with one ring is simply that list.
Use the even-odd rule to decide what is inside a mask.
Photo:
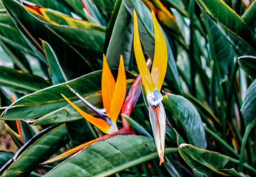
[{"label": "blue-green leaf cut off by the right edge, about mid-height", "polygon": [[249,86],[245,99],[243,101],[243,105],[241,107],[241,113],[247,124],[256,119],[256,80],[254,80]]}]

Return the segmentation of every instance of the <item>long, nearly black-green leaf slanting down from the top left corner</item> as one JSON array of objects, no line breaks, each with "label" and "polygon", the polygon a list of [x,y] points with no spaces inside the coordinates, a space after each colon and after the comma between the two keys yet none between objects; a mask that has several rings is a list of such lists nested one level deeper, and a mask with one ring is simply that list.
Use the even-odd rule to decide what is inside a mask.
[{"label": "long, nearly black-green leaf slanting down from the top left corner", "polygon": [[[18,1],[3,0],[3,4],[13,22],[29,42],[30,47],[36,52],[35,54],[37,56],[43,55],[43,47],[41,46],[40,39],[45,40],[52,46],[57,57],[61,58],[60,65],[68,77],[74,78],[92,71],[92,67],[89,67],[74,49],[53,34],[45,24],[32,17]],[[73,59],[70,60],[70,58]],[[42,61],[46,63],[46,59],[42,59]],[[77,65],[80,67],[77,67]]]}]

